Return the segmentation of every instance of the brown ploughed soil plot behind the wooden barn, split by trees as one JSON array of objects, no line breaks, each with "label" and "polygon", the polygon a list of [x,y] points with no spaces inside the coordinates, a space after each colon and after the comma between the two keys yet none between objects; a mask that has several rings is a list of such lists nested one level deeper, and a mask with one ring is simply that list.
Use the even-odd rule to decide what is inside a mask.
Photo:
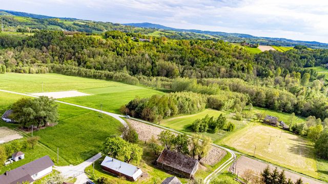
[{"label": "brown ploughed soil plot behind the wooden barn, split by trees", "polygon": [[[145,123],[141,123],[138,121],[134,121],[134,120],[127,120],[130,125],[137,131],[138,135],[139,135],[139,140],[141,141],[148,141],[151,139],[152,135],[154,135],[157,138],[157,135],[164,131],[164,129],[159,128],[159,127],[155,127],[155,126],[151,126]],[[211,146],[211,150],[209,151],[209,154],[201,159],[201,162],[207,165],[215,165],[216,163],[220,162],[220,160],[226,156],[227,152]]]}]

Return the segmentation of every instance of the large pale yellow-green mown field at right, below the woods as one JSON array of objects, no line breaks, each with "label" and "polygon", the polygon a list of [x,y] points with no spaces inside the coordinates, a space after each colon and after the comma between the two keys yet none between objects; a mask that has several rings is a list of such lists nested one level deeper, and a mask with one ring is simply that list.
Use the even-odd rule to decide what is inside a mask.
[{"label": "large pale yellow-green mown field at right, below the woods", "polygon": [[251,123],[231,133],[220,143],[249,155],[254,154],[256,146],[255,157],[315,178],[319,177],[313,143],[290,132],[262,123]]}]

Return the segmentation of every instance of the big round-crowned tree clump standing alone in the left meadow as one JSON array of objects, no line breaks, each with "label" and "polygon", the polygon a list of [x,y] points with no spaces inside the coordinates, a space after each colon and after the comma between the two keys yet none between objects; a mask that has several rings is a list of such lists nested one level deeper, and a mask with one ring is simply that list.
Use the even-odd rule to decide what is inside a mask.
[{"label": "big round-crowned tree clump standing alone in the left meadow", "polygon": [[23,128],[30,128],[32,125],[39,128],[58,120],[57,104],[45,96],[19,99],[11,105],[11,109],[13,113],[10,118]]}]

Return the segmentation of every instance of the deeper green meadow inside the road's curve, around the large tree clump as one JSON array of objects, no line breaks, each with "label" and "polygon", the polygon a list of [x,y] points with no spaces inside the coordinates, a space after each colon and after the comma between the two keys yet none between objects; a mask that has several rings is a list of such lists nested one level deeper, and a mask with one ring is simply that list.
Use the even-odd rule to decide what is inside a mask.
[{"label": "deeper green meadow inside the road's curve, around the large tree clump", "polygon": [[[22,97],[0,91],[0,108],[4,111]],[[34,131],[33,135],[40,136],[40,143],[52,150],[49,154],[56,155],[59,148],[59,155],[65,159],[66,164],[79,164],[98,153],[106,137],[118,135],[117,127],[121,126],[110,116],[103,114],[99,117],[98,112],[66,104],[58,103],[58,113],[57,125]],[[1,125],[15,127],[13,124]]]}]

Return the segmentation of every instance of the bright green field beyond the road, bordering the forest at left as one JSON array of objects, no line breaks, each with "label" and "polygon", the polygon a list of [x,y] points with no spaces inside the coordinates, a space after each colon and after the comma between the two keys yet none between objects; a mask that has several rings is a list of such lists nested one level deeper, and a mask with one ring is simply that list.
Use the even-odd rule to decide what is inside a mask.
[{"label": "bright green field beyond the road, bordering the forest at left", "polygon": [[116,113],[119,113],[122,105],[136,96],[145,98],[154,94],[163,94],[142,86],[59,74],[6,73],[4,77],[0,78],[0,86],[2,86],[1,89],[21,93],[37,93],[42,92],[42,89],[45,92],[78,90],[92,95],[60,100],[94,108],[100,108],[100,103],[103,103],[103,110]]}]

